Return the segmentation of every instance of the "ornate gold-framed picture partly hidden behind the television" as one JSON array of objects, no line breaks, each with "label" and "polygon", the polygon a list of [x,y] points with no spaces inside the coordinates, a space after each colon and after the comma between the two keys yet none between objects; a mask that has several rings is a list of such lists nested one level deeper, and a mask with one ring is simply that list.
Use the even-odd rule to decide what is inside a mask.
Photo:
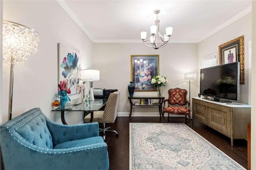
[{"label": "ornate gold-framed picture partly hidden behind the television", "polygon": [[219,45],[219,65],[225,64],[225,52],[234,49],[235,59],[240,62],[240,84],[244,84],[244,36]]}]

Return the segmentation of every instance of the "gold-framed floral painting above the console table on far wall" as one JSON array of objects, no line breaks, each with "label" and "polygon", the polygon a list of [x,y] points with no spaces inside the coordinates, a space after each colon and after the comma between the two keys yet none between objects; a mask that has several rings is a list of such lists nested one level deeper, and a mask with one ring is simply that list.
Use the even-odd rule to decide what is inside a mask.
[{"label": "gold-framed floral painting above the console table on far wall", "polygon": [[134,91],[157,91],[151,79],[158,75],[159,55],[131,55],[131,81]]}]

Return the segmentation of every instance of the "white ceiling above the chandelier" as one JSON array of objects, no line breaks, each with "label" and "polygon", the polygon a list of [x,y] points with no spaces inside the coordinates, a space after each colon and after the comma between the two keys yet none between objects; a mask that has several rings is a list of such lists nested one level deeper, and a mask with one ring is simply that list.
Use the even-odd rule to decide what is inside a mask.
[{"label": "white ceiling above the chandelier", "polygon": [[173,27],[170,42],[197,43],[252,11],[251,0],[57,0],[94,43],[142,42],[154,25]]}]

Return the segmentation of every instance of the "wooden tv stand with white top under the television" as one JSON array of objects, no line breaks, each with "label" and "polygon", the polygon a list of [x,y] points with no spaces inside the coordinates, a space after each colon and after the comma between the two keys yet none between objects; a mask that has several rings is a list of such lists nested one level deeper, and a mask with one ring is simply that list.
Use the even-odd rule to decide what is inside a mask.
[{"label": "wooden tv stand with white top under the television", "polygon": [[247,139],[247,125],[251,122],[251,106],[242,103],[220,103],[192,97],[193,119],[234,139]]}]

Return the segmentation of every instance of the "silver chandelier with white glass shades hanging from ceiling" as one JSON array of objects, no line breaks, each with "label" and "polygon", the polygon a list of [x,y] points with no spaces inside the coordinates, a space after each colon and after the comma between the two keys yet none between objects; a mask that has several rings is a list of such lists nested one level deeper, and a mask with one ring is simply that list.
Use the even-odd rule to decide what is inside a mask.
[{"label": "silver chandelier with white glass shades hanging from ceiling", "polygon": [[[158,20],[158,14],[160,13],[160,10],[155,10],[154,13],[156,14],[156,20],[155,20],[155,25],[150,26],[150,33],[151,33],[150,38],[148,40],[146,40],[147,32],[141,32],[140,36],[141,36],[141,40],[143,41],[143,43],[145,45],[147,45],[145,42],[148,42],[150,40],[151,45],[147,45],[147,46],[152,47],[154,49],[158,49],[161,47],[165,47],[167,45],[168,41],[170,40],[170,36],[172,35],[172,27],[167,27],[165,29],[166,34],[164,34],[164,36],[162,36],[159,32],[160,20]],[[158,37],[162,41],[162,44],[159,46],[158,46]]]}]

